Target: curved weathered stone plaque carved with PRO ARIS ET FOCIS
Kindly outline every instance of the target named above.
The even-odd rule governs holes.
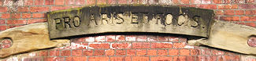
[[[213,10],[169,5],[87,6],[47,13],[50,38],[106,32],[208,37]]]

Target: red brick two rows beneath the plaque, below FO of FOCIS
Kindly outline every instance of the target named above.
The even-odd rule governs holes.
[[[172,42],[154,42],[151,43],[151,48],[173,48]]]

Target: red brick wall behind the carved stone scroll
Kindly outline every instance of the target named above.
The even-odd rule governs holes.
[[[216,20],[255,27],[256,0],[1,0],[0,31],[30,23],[46,22],[46,12],[84,5],[147,4],[180,5],[213,9]],[[242,54],[209,47],[187,45],[187,38],[174,35],[109,34],[72,38],[71,46],[31,52],[6,60],[256,60]]]

